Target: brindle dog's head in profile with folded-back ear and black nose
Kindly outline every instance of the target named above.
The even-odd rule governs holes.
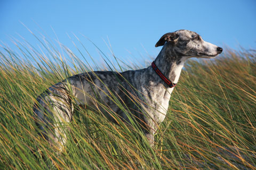
[[[177,54],[187,57],[213,58],[222,53],[222,48],[208,43],[196,32],[178,30],[165,33],[156,43],[156,47],[171,46]]]

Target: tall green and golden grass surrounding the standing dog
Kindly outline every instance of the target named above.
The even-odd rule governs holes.
[[[67,148],[57,154],[36,133],[35,98],[89,68],[65,47],[66,60],[41,45],[1,49],[1,169],[256,169],[255,50],[188,61],[153,149],[137,140],[139,132],[77,109]]]

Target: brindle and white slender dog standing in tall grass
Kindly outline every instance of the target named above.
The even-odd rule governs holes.
[[[75,101],[112,122],[135,122],[153,147],[154,134],[166,116],[185,61],[222,53],[221,47],[189,30],[166,33],[155,45],[159,46],[163,46],[161,52],[145,69],[85,72],[51,86],[36,99],[33,108],[38,133],[62,150],[68,128],[60,124],[72,121]]]

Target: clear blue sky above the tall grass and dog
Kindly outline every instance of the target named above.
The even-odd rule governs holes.
[[[37,45],[28,27],[57,39],[76,53],[73,33],[98,60],[97,49],[123,60],[155,56],[166,32],[188,29],[221,47],[256,47],[256,1],[0,1],[0,41],[14,48],[18,34]],[[24,25],[26,25],[26,27]],[[54,33],[55,32],[55,33]],[[105,41],[104,41],[105,40]],[[77,44],[77,42],[76,42]],[[80,48],[80,47],[79,47]],[[2,49],[0,49],[2,50]],[[225,50],[225,49],[224,49]],[[84,51],[83,51],[84,53]],[[100,59],[99,59],[100,60]]]

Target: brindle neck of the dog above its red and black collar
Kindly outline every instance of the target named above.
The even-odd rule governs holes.
[[[164,45],[156,57],[155,64],[167,79],[177,83],[187,57],[182,57],[175,53],[173,48],[169,46]]]

